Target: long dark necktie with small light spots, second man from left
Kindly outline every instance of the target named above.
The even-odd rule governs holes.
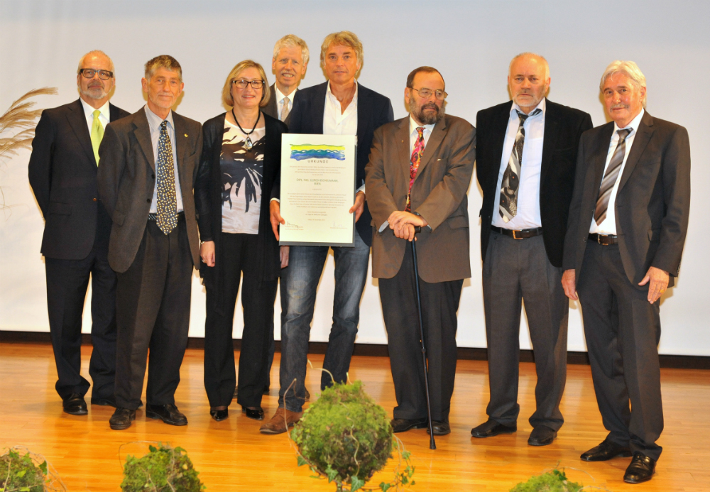
[[[160,124],[158,139],[158,203],[157,222],[163,234],[167,236],[178,225],[178,201],[175,198],[175,161],[173,160],[173,144],[168,135],[168,121]]]

